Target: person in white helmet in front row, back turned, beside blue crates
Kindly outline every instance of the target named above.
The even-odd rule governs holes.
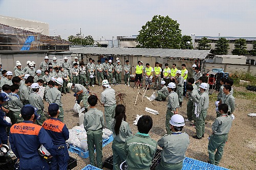
[[[169,124],[172,134],[164,135],[157,141],[159,147],[163,149],[161,152],[161,161],[156,167],[157,170],[181,170],[189,145],[188,134],[182,133],[182,129],[185,126],[183,116],[180,114],[173,115],[170,118]]]

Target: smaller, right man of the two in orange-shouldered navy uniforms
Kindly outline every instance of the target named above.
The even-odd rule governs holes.
[[[48,113],[50,118],[42,124],[42,127],[48,132],[53,144],[58,148],[56,150],[56,156],[51,158],[51,169],[66,170],[69,160],[69,152],[66,145],[66,140],[69,139],[69,130],[57,118],[59,115],[59,106],[56,103],[49,105]]]

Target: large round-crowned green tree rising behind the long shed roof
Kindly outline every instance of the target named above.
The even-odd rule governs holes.
[[[142,48],[180,48],[181,30],[177,20],[155,15],[139,31],[136,42]]]

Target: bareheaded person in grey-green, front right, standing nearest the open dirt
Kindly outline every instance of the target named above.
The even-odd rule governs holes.
[[[231,113],[228,111],[228,106],[226,104],[220,104],[218,110],[221,116],[217,117],[212,124],[208,143],[209,163],[217,166],[221,161],[228,132],[232,124]]]

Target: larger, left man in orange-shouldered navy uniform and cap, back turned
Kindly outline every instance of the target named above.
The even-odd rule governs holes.
[[[46,130],[34,124],[35,119],[39,118],[36,114],[36,108],[25,105],[21,113],[24,121],[14,124],[9,134],[9,142],[19,161],[19,169],[49,169],[46,160],[39,155],[38,148],[42,144],[51,156],[55,156],[56,146]]]

